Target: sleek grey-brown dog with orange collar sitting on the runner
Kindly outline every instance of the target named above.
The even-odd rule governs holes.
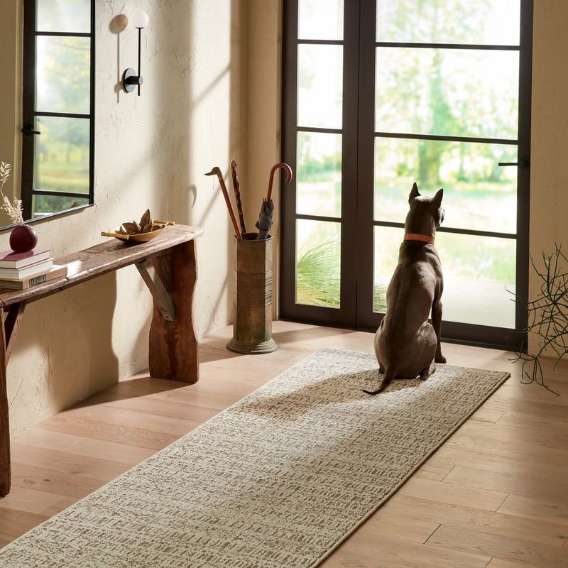
[[[393,378],[428,378],[436,363],[445,363],[439,342],[442,322],[442,265],[434,246],[436,229],[444,220],[439,190],[422,197],[416,184],[408,197],[410,211],[398,265],[386,291],[386,314],[375,334],[375,354],[383,373],[380,393]],[[428,321],[432,310],[432,323]]]

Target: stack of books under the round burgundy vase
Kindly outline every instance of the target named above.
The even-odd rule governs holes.
[[[25,290],[66,275],[67,266],[53,264],[49,249],[0,251],[0,288]]]

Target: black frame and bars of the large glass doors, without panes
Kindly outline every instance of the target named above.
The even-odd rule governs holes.
[[[524,162],[518,168],[517,229],[515,234],[474,231],[439,227],[440,232],[498,236],[516,239],[516,297],[515,330],[501,327],[446,322],[442,324],[445,341],[480,344],[506,349],[526,349],[527,310],[523,302],[528,298],[529,268],[529,208],[530,208],[530,120],[532,85],[532,19],[534,0],[520,0],[519,46],[509,46],[520,53],[518,139],[504,141],[518,145],[518,159]],[[310,324],[324,324],[374,331],[382,315],[372,311],[373,267],[357,263],[354,251],[372,258],[373,227],[403,227],[400,223],[376,222],[373,219],[373,164],[375,132],[375,49],[383,42],[376,41],[376,0],[345,0],[344,39],[341,41],[298,40],[298,0],[284,0],[283,5],[283,105],[282,137],[283,160],[296,170],[296,136],[298,131],[332,132],[332,129],[305,129],[297,126],[297,46],[302,43],[338,44],[344,46],[344,107],[342,133],[342,216],[338,219],[320,215],[296,213],[296,183],[282,192],[280,301],[279,317]],[[349,8],[347,8],[349,6]],[[391,45],[391,44],[389,44]],[[394,45],[394,44],[392,44]],[[412,47],[457,48],[453,44],[408,44]],[[403,44],[396,44],[400,47]],[[459,48],[475,49],[476,45]],[[503,46],[484,45],[486,49]],[[354,111],[351,107],[356,107]],[[353,123],[349,123],[353,121]],[[399,137],[400,135],[394,135]],[[406,138],[451,139],[455,136],[403,135]],[[468,142],[491,142],[494,139],[465,138]],[[371,188],[371,189],[370,189]],[[296,219],[314,219],[342,222],[342,281],[340,308],[301,305],[295,303],[295,223]],[[351,251],[351,253],[349,253]],[[442,298],[443,301],[443,298]]]

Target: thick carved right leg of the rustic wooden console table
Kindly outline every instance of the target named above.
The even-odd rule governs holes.
[[[168,321],[168,311],[164,309],[168,302],[164,302],[163,297],[160,299],[158,285],[158,290],[153,291],[149,351],[150,374],[156,378],[185,383],[196,383],[199,379],[197,336],[193,324],[193,294],[197,280],[195,248],[195,240],[188,241],[173,247],[165,255],[152,258],[174,307],[173,321]]]

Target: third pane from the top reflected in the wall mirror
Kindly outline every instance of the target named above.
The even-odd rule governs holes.
[[[38,116],[36,190],[89,193],[89,119]]]

